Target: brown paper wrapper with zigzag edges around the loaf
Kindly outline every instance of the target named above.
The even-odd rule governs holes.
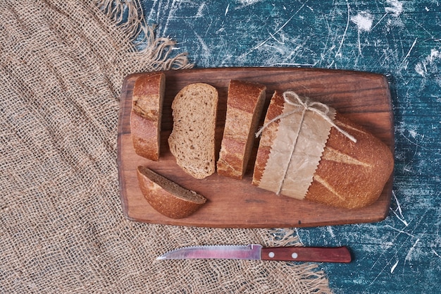
[[[335,109],[329,107],[328,117],[334,120]],[[259,187],[303,200],[320,163],[330,128],[321,114],[285,102]]]

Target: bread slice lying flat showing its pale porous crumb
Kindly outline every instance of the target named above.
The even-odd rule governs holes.
[[[210,176],[216,165],[218,91],[204,83],[187,85],[171,107],[173,130],[168,145],[176,163],[194,178]]]

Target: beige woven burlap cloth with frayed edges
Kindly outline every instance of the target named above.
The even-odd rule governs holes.
[[[185,245],[299,245],[293,231],[124,218],[123,78],[191,66],[142,27],[133,1],[2,1],[0,293],[330,293],[315,264],[155,260]]]

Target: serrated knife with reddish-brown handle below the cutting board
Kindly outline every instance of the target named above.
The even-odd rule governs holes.
[[[341,247],[263,247],[249,245],[208,245],[182,247],[156,258],[163,259],[257,259],[294,262],[351,262],[351,253]]]

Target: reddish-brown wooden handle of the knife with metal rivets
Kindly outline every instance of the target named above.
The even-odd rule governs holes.
[[[294,262],[351,262],[351,252],[341,247],[266,247],[262,248],[263,260]]]

